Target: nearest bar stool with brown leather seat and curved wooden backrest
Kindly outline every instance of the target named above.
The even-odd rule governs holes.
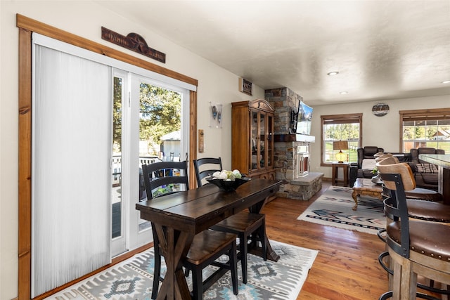
[[[378,164],[383,183],[390,190],[384,200],[387,251],[391,259],[392,280],[389,292],[380,299],[424,299],[427,294],[417,293],[417,287],[449,294],[447,290],[418,284],[418,275],[450,284],[450,226],[434,221],[411,219],[406,190],[413,190],[413,180],[408,164]]]

